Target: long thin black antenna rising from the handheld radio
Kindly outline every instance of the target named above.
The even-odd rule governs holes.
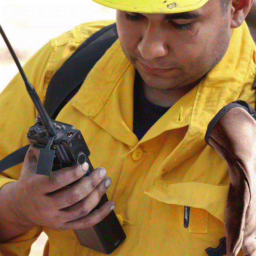
[[[20,65],[20,62],[13,50],[8,38],[6,37],[6,34],[4,33],[4,30],[2,29],[1,25],[0,25],[0,34],[2,35],[2,38],[4,39],[4,42],[6,43],[6,46],[8,47],[10,54],[12,55],[12,58],[14,59],[14,62],[16,63],[16,66],[20,72],[20,75],[22,76],[22,79],[25,83],[27,92],[38,111],[38,114],[41,118],[42,124],[44,125],[47,136],[52,137],[52,136],[57,135],[57,133],[58,133],[57,130],[53,127],[52,121],[50,120],[50,117],[48,116],[38,94],[36,93],[35,88],[28,81],[28,78],[26,77],[24,70],[23,70],[22,66]]]

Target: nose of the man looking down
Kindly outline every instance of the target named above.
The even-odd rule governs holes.
[[[141,56],[145,60],[166,56],[168,54],[166,38],[166,32],[159,26],[147,24],[137,46]]]

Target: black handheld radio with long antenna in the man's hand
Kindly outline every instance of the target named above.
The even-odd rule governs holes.
[[[38,111],[37,122],[28,129],[27,133],[30,145],[40,150],[36,173],[50,175],[54,170],[72,166],[76,163],[81,165],[86,161],[89,169],[84,176],[88,176],[94,169],[88,158],[90,151],[80,130],[75,129],[70,124],[50,119],[36,90],[28,81],[1,26],[0,34],[18,67],[27,92]],[[104,194],[96,208],[102,206],[106,201],[108,201],[108,198]],[[105,254],[113,252],[126,238],[113,210],[98,224],[91,228],[74,230],[74,233],[82,246]]]

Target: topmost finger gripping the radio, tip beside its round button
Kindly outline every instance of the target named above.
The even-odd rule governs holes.
[[[73,166],[56,170],[50,176],[41,175],[41,180],[38,182],[42,183],[39,185],[44,189],[45,193],[51,193],[79,180],[84,176],[88,167],[86,162],[82,165],[74,164]]]

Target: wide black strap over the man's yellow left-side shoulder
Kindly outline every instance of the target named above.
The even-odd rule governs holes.
[[[89,71],[117,39],[116,23],[98,30],[56,71],[48,84],[44,102],[51,119],[55,119],[78,92]],[[0,172],[22,163],[28,148],[29,145],[26,145],[0,160]]]

